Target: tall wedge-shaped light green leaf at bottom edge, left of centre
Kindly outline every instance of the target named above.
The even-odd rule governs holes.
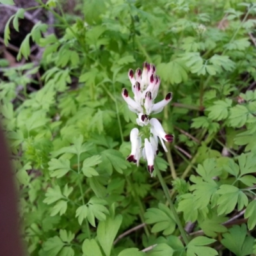
[[[121,215],[116,216],[115,219],[108,216],[106,221],[100,221],[98,225],[97,237],[106,256],[109,256],[111,253],[111,248],[122,223],[122,219]]]

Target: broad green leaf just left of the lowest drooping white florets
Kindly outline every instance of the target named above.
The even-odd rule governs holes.
[[[123,173],[123,170],[127,169],[130,166],[127,161],[125,161],[124,156],[118,150],[107,149],[101,152],[102,163],[100,168],[106,170],[106,172],[111,175],[113,173],[113,168],[118,173]]]

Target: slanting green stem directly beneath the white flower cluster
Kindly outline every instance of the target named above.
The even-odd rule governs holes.
[[[156,173],[157,173],[157,177],[158,177],[158,179],[159,179],[159,181],[160,181],[160,183],[161,183],[161,186],[162,186],[162,188],[163,188],[164,195],[166,196],[166,199],[167,199],[167,201],[168,201],[168,203],[169,203],[169,205],[170,205],[170,209],[171,209],[171,211],[172,211],[172,213],[173,213],[173,216],[174,216],[174,218],[175,218],[175,221],[176,221],[176,223],[177,223],[177,226],[178,226],[178,228],[179,228],[179,230],[180,230],[180,234],[181,234],[181,236],[182,236],[182,238],[183,238],[183,240],[184,240],[184,243],[185,243],[186,245],[188,245],[189,240],[188,240],[187,234],[186,234],[184,228],[182,227],[182,224],[181,224],[180,219],[179,219],[179,215],[177,214],[177,211],[176,211],[176,209],[175,209],[175,207],[174,207],[174,205],[173,205],[172,198],[171,198],[171,196],[170,196],[170,193],[169,193],[169,191],[168,191],[168,188],[167,188],[167,186],[166,186],[166,183],[164,182],[164,179],[163,179],[163,177],[162,177],[162,175],[161,175],[161,172],[160,172],[160,170],[159,170],[157,164],[155,163],[154,165],[155,165],[155,170],[156,170]]]

